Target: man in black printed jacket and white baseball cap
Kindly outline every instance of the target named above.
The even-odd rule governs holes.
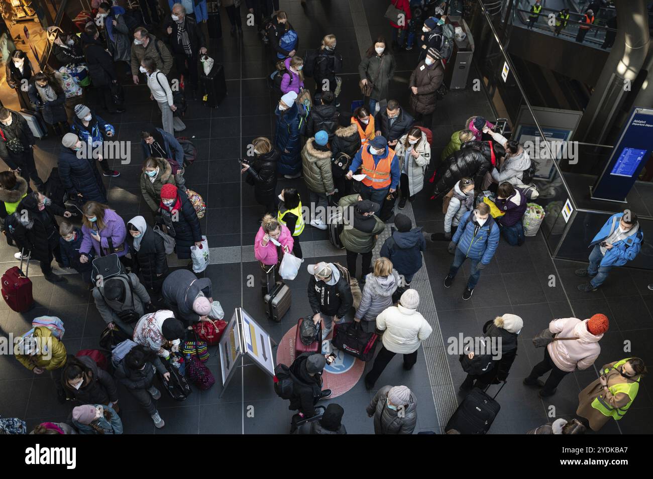
[[[354,304],[348,273],[333,263],[309,264],[308,302],[313,311],[313,322],[324,320],[322,339],[327,339],[336,324],[345,322],[345,315]]]

